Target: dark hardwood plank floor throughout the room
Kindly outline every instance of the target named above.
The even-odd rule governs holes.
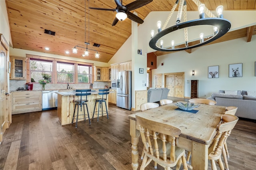
[[[0,170],[131,170],[128,115],[132,113],[110,104],[109,120],[100,117],[92,125],[82,121],[78,128],[61,126],[56,110],[12,115],[0,145]],[[230,170],[255,169],[255,122],[240,119],[227,144]],[[146,169],[154,170],[154,166]]]

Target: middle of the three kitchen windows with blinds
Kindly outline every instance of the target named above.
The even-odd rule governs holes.
[[[57,83],[74,83],[74,64],[57,62]]]

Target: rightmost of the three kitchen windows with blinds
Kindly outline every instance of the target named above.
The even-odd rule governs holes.
[[[77,66],[78,83],[92,83],[92,66],[80,65]]]

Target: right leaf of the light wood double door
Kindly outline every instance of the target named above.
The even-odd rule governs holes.
[[[174,97],[184,98],[184,74],[174,75]]]

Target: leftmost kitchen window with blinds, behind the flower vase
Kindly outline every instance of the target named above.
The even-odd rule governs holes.
[[[31,82],[48,80],[52,82],[52,61],[30,58],[30,78]]]

